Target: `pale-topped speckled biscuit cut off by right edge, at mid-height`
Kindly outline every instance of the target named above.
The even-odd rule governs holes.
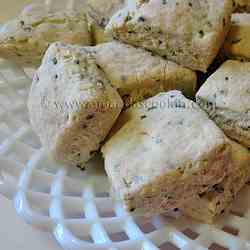
[[[225,62],[196,100],[227,136],[250,148],[250,63]]]

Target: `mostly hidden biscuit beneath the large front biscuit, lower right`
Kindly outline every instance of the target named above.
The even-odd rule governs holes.
[[[236,195],[249,181],[250,152],[238,143],[231,143],[232,173],[208,192],[198,194],[192,202],[185,204],[182,209],[184,214],[205,223],[213,223],[230,208]]]

